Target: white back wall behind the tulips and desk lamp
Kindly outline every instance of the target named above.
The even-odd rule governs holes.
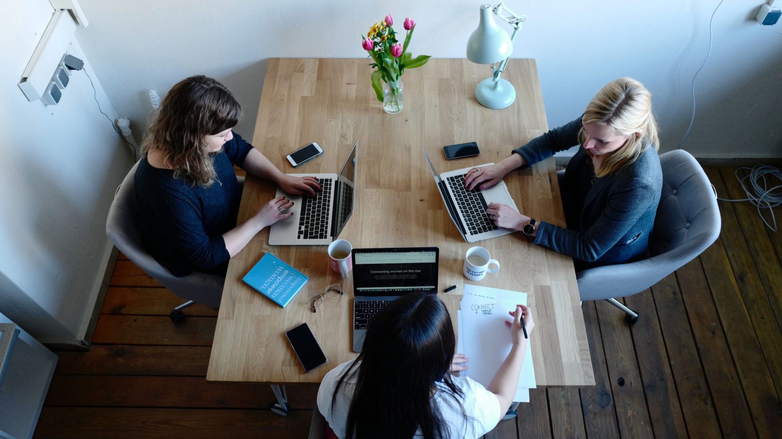
[[[698,115],[683,145],[694,155],[782,156],[782,24],[763,27],[754,20],[761,2],[732,0],[716,13],[712,55],[695,87]],[[690,121],[691,79],[708,50],[708,20],[718,3],[506,2],[529,17],[514,57],[537,60],[551,127],[579,116],[608,80],[631,76],[655,95],[664,150],[676,148]],[[464,58],[480,4],[81,0],[91,25],[78,35],[137,137],[148,123],[147,90],[162,96],[198,73],[234,91],[246,111],[237,130],[249,137],[268,58],[364,57],[359,35],[388,12],[399,23],[405,16],[417,20],[414,54]]]

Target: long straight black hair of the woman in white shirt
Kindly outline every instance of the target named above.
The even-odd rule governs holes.
[[[367,327],[364,352],[339,378],[332,397],[333,408],[345,377],[361,362],[346,439],[406,438],[418,429],[425,439],[447,437],[432,395],[446,391],[464,413],[464,393],[450,376],[455,348],[448,309],[436,294],[406,294],[378,312]]]

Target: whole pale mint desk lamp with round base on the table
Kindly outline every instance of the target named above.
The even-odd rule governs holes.
[[[508,12],[509,16],[503,16],[502,12]],[[494,14],[500,17],[500,20],[511,24],[511,37],[494,23]],[[481,5],[480,23],[467,41],[467,59],[476,64],[491,64],[493,77],[482,80],[475,87],[475,99],[485,107],[504,109],[516,100],[515,88],[508,80],[500,78],[500,74],[508,64],[513,53],[513,41],[522,27],[522,21],[526,19],[526,16],[517,16],[501,1],[493,8],[490,5]],[[497,62],[500,62],[499,67],[496,66]]]

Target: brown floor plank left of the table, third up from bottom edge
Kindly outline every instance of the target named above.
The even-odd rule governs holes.
[[[206,377],[210,346],[94,344],[88,352],[59,352],[55,373]]]

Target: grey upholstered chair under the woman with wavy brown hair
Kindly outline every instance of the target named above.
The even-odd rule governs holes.
[[[138,168],[138,162],[117,188],[117,194],[114,195],[114,201],[109,208],[109,217],[106,219],[106,234],[120,249],[120,252],[127,256],[127,259],[163,284],[163,287],[167,287],[171,292],[187,301],[171,312],[170,317],[174,323],[185,317],[181,309],[194,302],[219,308],[223,294],[223,277],[199,272],[190,273],[185,277],[174,277],[144,249],[141,232],[135,222],[133,193],[136,168]]]

